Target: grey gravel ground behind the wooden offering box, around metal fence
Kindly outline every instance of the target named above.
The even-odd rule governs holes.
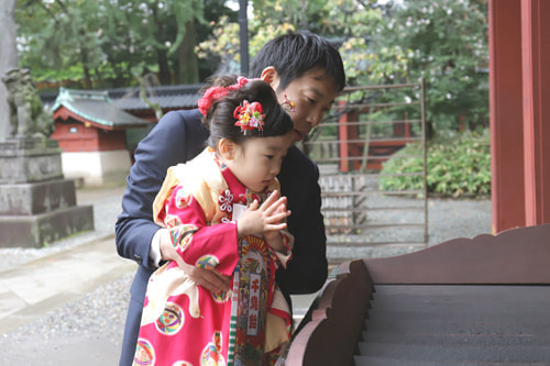
[[[371,211],[366,218],[370,225],[376,224],[419,224],[416,228],[372,229],[366,235],[329,236],[328,257],[332,262],[348,258],[384,257],[421,249],[455,237],[473,237],[491,233],[490,200],[428,199],[428,237],[425,241],[424,200],[404,197],[372,196],[371,207],[414,207],[417,210]],[[331,241],[339,243],[366,243],[362,246],[331,246]],[[395,243],[395,244],[380,244]],[[356,245],[356,244],[355,244]]]

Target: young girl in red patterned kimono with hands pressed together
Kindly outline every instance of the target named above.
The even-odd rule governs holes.
[[[134,365],[270,365],[290,335],[275,271],[293,245],[276,179],[293,121],[268,84],[245,78],[219,78],[199,109],[209,146],[168,169],[154,217],[186,263],[232,276],[231,290],[209,292],[174,262],[160,267]]]

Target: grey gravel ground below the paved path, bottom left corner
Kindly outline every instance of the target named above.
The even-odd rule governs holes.
[[[1,365],[117,365],[133,275],[0,336]]]

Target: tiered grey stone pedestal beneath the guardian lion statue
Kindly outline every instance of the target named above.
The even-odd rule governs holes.
[[[76,206],[75,182],[62,171],[54,140],[0,142],[0,246],[41,247],[94,230],[92,207]]]

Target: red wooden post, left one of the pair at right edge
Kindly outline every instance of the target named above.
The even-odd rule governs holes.
[[[488,1],[493,232],[525,225],[520,0]]]

